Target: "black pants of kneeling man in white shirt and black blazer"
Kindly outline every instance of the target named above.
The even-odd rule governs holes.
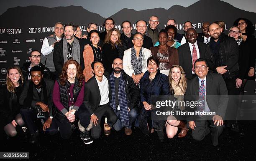
[[[97,116],[97,118],[99,119],[97,122],[98,124],[96,124],[96,126],[94,126],[94,124],[92,125],[92,129],[91,129],[91,135],[92,138],[94,139],[98,139],[100,138],[101,135],[101,127],[100,127],[100,122],[102,119],[102,116],[106,116],[108,119],[108,124],[110,126],[113,126],[115,124],[115,122],[117,121],[118,117],[115,115],[115,112],[113,110],[112,107],[110,107],[110,104],[105,104],[101,107],[98,107],[94,114]]]

